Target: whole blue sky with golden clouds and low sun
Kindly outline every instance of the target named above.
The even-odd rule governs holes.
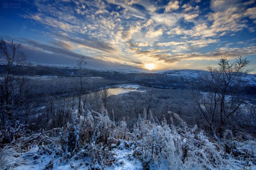
[[[0,36],[27,61],[103,69],[256,68],[255,0],[3,0]],[[256,72],[254,70],[254,72]]]

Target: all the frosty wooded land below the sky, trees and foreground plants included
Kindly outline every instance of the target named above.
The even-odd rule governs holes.
[[[256,169],[244,57],[146,73],[88,68],[85,56],[35,64],[2,37],[0,52],[0,169]],[[134,89],[110,93],[120,86]]]

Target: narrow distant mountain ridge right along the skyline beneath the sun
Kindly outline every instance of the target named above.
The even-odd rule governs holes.
[[[3,65],[6,65],[6,60],[4,58],[0,58],[0,73],[3,72]],[[60,76],[71,76],[76,75],[77,66],[76,65],[61,65],[61,64],[45,64],[45,63],[37,63],[37,62],[25,62],[22,63],[23,66],[27,66],[27,71],[31,75],[60,75]],[[17,68],[19,69],[19,68]],[[110,74],[127,74],[133,73],[135,74],[143,74],[145,77],[153,76],[153,75],[168,75],[176,78],[187,79],[188,81],[196,80],[199,78],[199,73],[208,74],[205,70],[193,70],[193,69],[174,69],[174,70],[166,70],[160,72],[142,72],[142,71],[134,71],[127,69],[100,69],[94,67],[85,67],[87,76],[93,77],[105,77]],[[249,86],[256,86],[256,74],[245,74],[244,79],[248,82]]]

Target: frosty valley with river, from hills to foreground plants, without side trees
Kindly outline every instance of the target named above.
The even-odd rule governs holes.
[[[4,70],[4,67],[2,64],[0,70]],[[245,99],[241,102],[239,112],[228,118],[230,122],[225,124],[224,130],[226,143],[241,138],[235,141],[235,145],[240,146],[238,151],[233,150],[230,154],[241,156],[240,152],[244,151],[251,156],[250,159],[239,160],[240,165],[237,165],[238,157],[223,159],[223,155],[217,153],[216,145],[224,150],[232,149],[232,146],[224,147],[224,143],[215,134],[218,131],[212,133],[211,126],[207,125],[211,117],[205,121],[199,112],[200,109],[211,109],[209,105],[214,104],[207,99],[214,96],[214,90],[203,86],[200,80],[200,76],[209,76],[209,72],[169,70],[147,73],[85,68],[81,76],[75,66],[40,64],[14,67],[14,72],[17,72],[14,80],[26,82],[23,88],[28,91],[22,94],[25,95],[20,99],[22,105],[16,104],[13,107],[16,109],[16,116],[13,117],[15,126],[2,126],[2,129],[7,128],[10,133],[2,130],[0,137],[2,144],[16,143],[20,149],[26,150],[23,153],[13,151],[13,154],[20,155],[14,159],[18,169],[170,169],[176,166],[179,167],[177,169],[227,166],[236,169],[255,166],[255,75],[244,74],[236,94],[230,91],[224,98],[226,105],[231,108],[240,103],[241,98]],[[4,72],[1,74],[3,76]],[[197,102],[201,102],[200,105],[197,106]],[[2,117],[1,121],[6,118]],[[212,121],[215,123],[216,119],[219,117],[214,117]],[[232,134],[230,128],[236,134]],[[241,129],[246,133],[242,135]],[[18,134],[23,137],[16,138]],[[168,138],[165,138],[166,135]],[[44,145],[40,141],[44,141]],[[212,153],[201,152],[197,143]],[[186,148],[186,145],[201,152],[203,157],[195,154],[191,148]],[[251,148],[244,149],[244,145]],[[170,150],[174,153],[169,153]],[[1,151],[6,152],[10,158],[13,155],[6,147]],[[116,156],[110,158],[112,163],[107,163],[108,159],[98,157],[100,155]],[[174,155],[178,164],[169,162]],[[215,155],[215,161],[212,155]],[[32,159],[34,161],[30,162]],[[206,161],[203,164],[202,159]],[[244,164],[244,160],[251,162]],[[13,166],[9,159],[6,161],[7,166]],[[159,162],[162,164],[158,165]]]

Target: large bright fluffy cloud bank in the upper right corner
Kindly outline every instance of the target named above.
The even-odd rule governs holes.
[[[188,4],[183,5],[184,8],[187,6]],[[254,29],[248,27],[246,17],[254,19],[256,8],[248,8],[246,10],[241,4],[226,3],[218,0],[211,1],[211,8],[214,12],[206,15],[207,20],[200,18],[200,22],[194,21],[195,18],[199,17],[199,14],[184,14],[185,20],[194,22],[195,26],[191,29],[184,29],[178,26],[168,31],[167,34],[206,38],[224,36],[243,29],[254,31]],[[202,22],[204,23],[202,24]]]

